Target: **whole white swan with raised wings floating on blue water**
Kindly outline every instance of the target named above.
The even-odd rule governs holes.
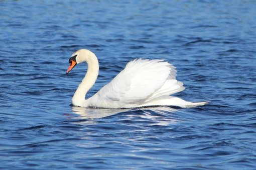
[[[195,107],[207,102],[189,102],[170,94],[185,89],[183,83],[176,80],[175,67],[161,59],[135,59],[112,81],[103,86],[92,97],[85,99],[87,91],[95,83],[99,63],[95,54],[80,49],[69,59],[67,73],[78,63],[87,62],[88,69],[72,98],[74,106],[101,108],[132,108],[152,105],[170,105]]]

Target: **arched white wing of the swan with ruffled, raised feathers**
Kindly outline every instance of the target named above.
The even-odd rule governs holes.
[[[183,83],[175,78],[176,72],[175,67],[164,60],[135,59],[127,63],[126,67],[90,100],[93,104],[100,101],[102,107],[103,101],[108,106],[113,104],[113,107],[140,105],[153,98],[183,90]]]

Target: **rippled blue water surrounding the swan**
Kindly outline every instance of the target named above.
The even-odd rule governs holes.
[[[255,169],[256,1],[1,0],[1,169]],[[167,59],[196,108],[88,109],[71,98],[98,57],[92,96],[135,58]],[[149,84],[150,85],[150,84]]]

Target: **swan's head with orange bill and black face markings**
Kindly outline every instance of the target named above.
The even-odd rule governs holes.
[[[79,49],[79,50],[77,50],[69,58],[68,62],[70,63],[70,66],[67,69],[67,73],[69,71],[71,71],[71,69],[73,69],[76,66],[76,64],[79,64],[79,63],[82,63],[82,62],[88,62],[88,61],[91,61],[92,59],[95,59],[95,58],[96,58],[95,54],[92,51],[88,50],[88,49]],[[97,60],[97,58],[96,58],[96,60]]]

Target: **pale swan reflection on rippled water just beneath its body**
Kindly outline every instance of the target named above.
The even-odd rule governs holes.
[[[170,113],[174,113],[177,109],[168,106],[150,106],[140,108],[88,108],[72,106],[72,112],[75,114],[79,114],[82,118],[102,118],[120,112],[138,110],[143,111],[143,113],[150,117],[151,115],[155,115],[155,113],[165,116]]]

